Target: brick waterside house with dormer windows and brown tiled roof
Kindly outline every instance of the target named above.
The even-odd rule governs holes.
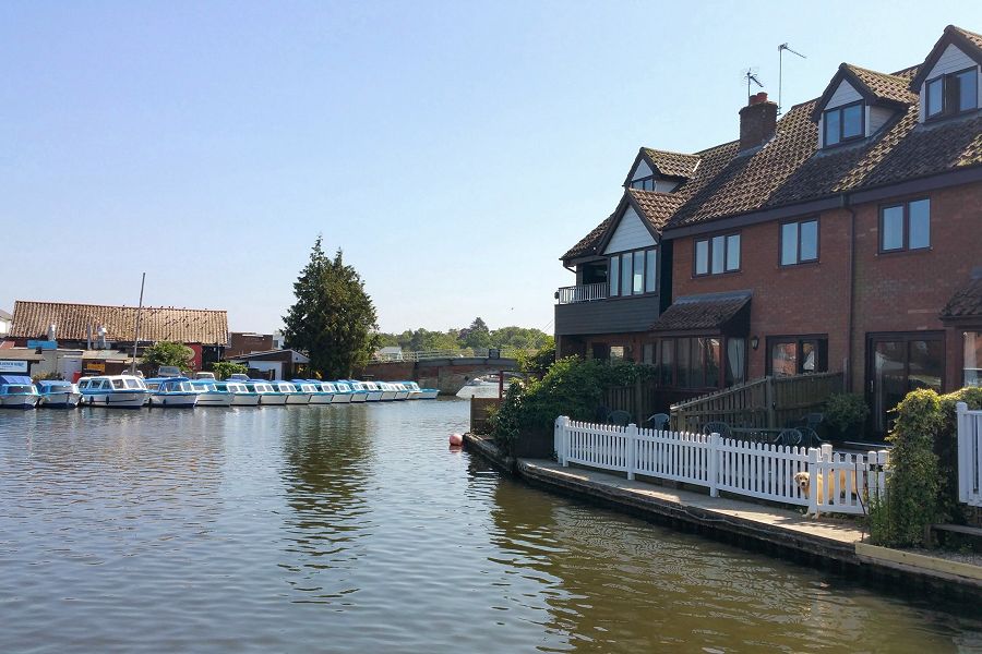
[[[563,256],[577,286],[559,293],[560,354],[656,365],[666,401],[766,374],[842,372],[877,433],[910,389],[979,384],[980,68],[982,36],[948,26],[919,65],[886,74],[843,63],[780,120],[766,94],[752,96],[735,141],[643,149],[625,197],[645,198],[657,245],[639,232],[618,241],[619,207]],[[684,161],[684,174],[656,156]],[[571,319],[643,298],[636,263],[628,278],[621,255],[649,246],[668,286],[645,308],[647,327],[640,316],[602,330]],[[607,277],[588,271],[604,259]]]

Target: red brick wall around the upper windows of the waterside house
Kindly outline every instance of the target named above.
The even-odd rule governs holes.
[[[853,390],[865,388],[866,334],[942,330],[938,312],[951,294],[982,266],[978,237],[982,184],[935,191],[931,197],[927,251],[878,254],[879,207],[855,207],[857,284],[853,327]],[[914,197],[923,197],[914,196]],[[898,199],[901,199],[898,197]],[[802,215],[800,218],[810,218]],[[749,377],[765,374],[768,336],[828,335],[828,368],[843,371],[848,358],[850,214],[819,216],[819,263],[779,265],[781,221],[741,230],[741,270],[694,278],[693,238],[674,243],[672,295],[752,290],[750,335],[759,348],[749,351]],[[961,332],[946,340],[945,388],[960,386]]]

